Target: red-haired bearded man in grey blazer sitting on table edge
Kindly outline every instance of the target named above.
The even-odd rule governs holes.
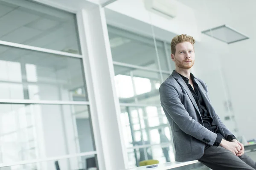
[[[212,170],[254,170],[256,163],[215,113],[207,85],[191,74],[194,43],[186,34],[172,39],[176,68],[159,88],[172,127],[176,161],[199,160]]]

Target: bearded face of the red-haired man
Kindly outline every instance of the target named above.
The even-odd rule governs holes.
[[[195,62],[194,47],[190,42],[181,42],[176,45],[175,55],[171,55],[176,67],[189,69]]]

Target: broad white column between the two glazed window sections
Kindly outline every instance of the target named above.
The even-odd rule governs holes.
[[[82,9],[77,18],[99,169],[125,169],[128,156],[122,142],[105,11],[93,5]]]

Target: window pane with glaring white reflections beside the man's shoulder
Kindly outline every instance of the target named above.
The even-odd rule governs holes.
[[[116,92],[120,103],[159,104],[159,73],[114,66]]]

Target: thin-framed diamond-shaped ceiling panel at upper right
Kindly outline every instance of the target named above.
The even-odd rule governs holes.
[[[208,36],[213,37],[217,40],[221,40],[222,42],[226,42],[227,44],[249,39],[249,37],[239,33],[238,31],[226,25],[211,28],[202,31],[202,33],[207,34]]]

